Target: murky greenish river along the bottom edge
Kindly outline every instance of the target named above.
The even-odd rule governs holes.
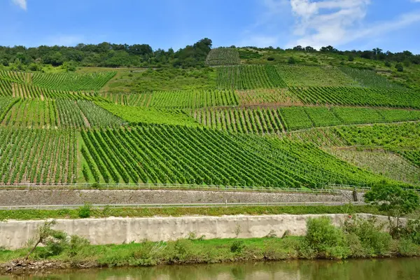
[[[0,276],[6,279],[50,280],[419,280],[419,258],[346,261],[246,262],[217,265],[173,265],[106,268]]]

